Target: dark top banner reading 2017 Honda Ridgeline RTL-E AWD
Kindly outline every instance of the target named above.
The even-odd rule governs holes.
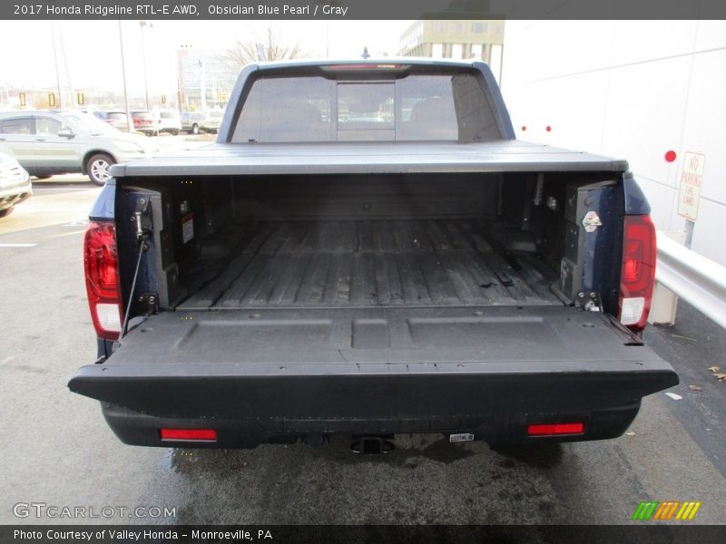
[[[11,0],[9,20],[726,19],[723,0]]]

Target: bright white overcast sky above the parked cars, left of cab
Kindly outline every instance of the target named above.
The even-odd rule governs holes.
[[[324,56],[326,35],[332,57],[357,57],[364,45],[396,54],[398,38],[412,21],[152,21],[145,29],[149,92],[176,92],[176,51],[182,44],[222,53],[236,40],[262,41],[267,28],[283,41]],[[123,21],[123,49],[129,92],[143,92],[141,27]],[[121,48],[117,21],[55,21],[61,77],[75,90],[121,90]],[[0,85],[54,89],[53,28],[50,21],[0,21]],[[62,37],[62,40],[60,39]],[[63,47],[60,44],[63,44]],[[64,50],[64,51],[63,51]],[[67,63],[67,70],[66,70]]]

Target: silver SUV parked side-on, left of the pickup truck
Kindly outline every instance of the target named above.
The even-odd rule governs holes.
[[[152,151],[141,137],[87,113],[0,113],[0,152],[13,155],[38,178],[81,172],[103,185],[112,164],[149,157]]]

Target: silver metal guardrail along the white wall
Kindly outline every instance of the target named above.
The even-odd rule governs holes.
[[[655,281],[726,328],[726,267],[684,248],[660,230]]]

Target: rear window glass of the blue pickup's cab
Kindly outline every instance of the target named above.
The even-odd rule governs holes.
[[[237,142],[491,141],[501,133],[471,73],[387,80],[323,76],[257,79],[232,135]]]

